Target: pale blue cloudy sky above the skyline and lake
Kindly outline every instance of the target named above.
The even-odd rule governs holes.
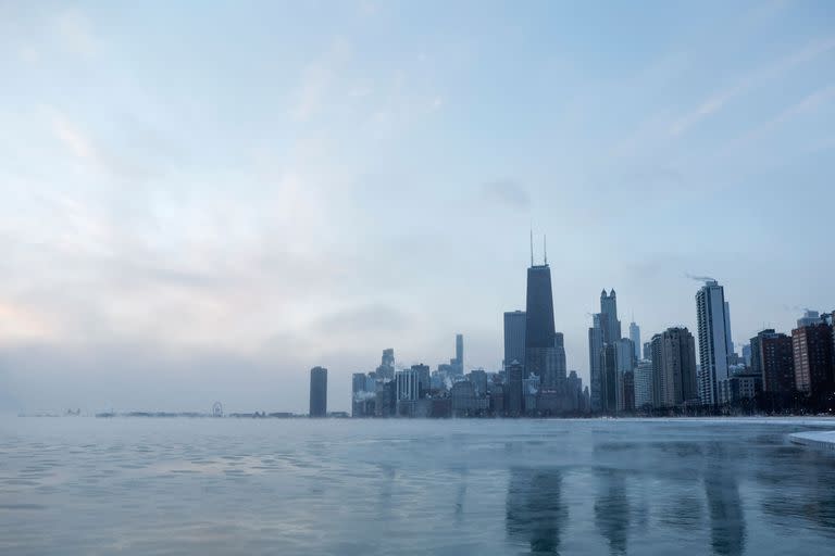
[[[0,0],[0,408],[307,412],[502,358],[528,233],[624,332],[835,308],[835,4]]]

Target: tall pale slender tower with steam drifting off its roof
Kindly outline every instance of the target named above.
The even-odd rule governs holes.
[[[705,405],[719,404],[719,383],[728,378],[727,357],[732,353],[731,317],[725,290],[708,280],[696,293],[699,331],[699,397]]]

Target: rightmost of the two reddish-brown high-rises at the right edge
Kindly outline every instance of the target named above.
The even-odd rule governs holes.
[[[831,389],[833,377],[832,326],[821,320],[792,330],[795,359],[795,387],[807,395]]]

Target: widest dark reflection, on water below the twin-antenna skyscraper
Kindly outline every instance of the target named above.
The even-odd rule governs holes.
[[[569,510],[561,498],[559,469],[512,468],[508,483],[508,538],[531,547],[531,554],[559,554]]]

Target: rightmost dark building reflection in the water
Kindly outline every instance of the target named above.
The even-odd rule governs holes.
[[[714,554],[734,556],[745,549],[745,515],[739,496],[736,456],[712,446],[705,470],[705,494],[710,516],[710,544]]]

